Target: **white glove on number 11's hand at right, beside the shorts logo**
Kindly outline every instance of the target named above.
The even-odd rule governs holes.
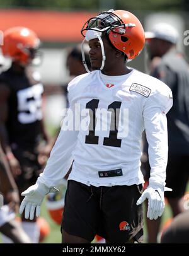
[[[168,187],[160,188],[154,185],[149,185],[140,196],[137,201],[137,206],[148,199],[147,218],[157,219],[163,214],[165,206],[164,191],[172,191],[172,189],[169,189]]]

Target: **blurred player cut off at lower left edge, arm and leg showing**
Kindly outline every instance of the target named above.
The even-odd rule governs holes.
[[[18,188],[0,145],[0,191],[4,195],[6,205],[0,207],[0,232],[14,243],[31,243],[30,238],[15,219],[20,198]]]

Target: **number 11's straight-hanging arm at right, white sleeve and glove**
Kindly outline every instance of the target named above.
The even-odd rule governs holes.
[[[137,204],[148,199],[147,217],[157,219],[164,210],[164,191],[166,180],[166,165],[168,161],[168,131],[166,113],[173,105],[171,90],[165,90],[164,95],[154,93],[146,100],[144,106],[144,126],[149,144],[149,164],[151,173],[149,186],[144,190]]]

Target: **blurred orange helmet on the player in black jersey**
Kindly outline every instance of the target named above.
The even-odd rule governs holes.
[[[12,61],[22,65],[29,64],[35,57],[35,52],[40,45],[36,33],[22,26],[9,28],[4,32],[4,56],[11,57]]]

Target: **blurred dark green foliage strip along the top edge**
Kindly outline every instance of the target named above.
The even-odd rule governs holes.
[[[130,9],[189,11],[188,0],[0,0],[0,8],[40,8],[57,10]]]

